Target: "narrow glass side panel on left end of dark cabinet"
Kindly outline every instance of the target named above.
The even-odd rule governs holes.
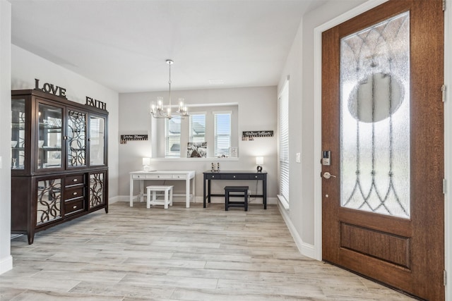
[[[25,99],[11,99],[11,168],[24,169]]]

